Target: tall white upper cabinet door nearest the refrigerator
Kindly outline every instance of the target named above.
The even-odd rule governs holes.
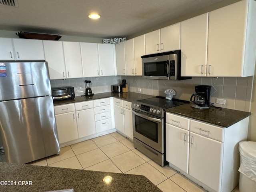
[[[65,79],[66,67],[61,41],[43,40],[44,56],[48,62],[50,79]]]

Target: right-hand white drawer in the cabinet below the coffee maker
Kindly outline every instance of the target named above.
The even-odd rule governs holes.
[[[190,132],[224,142],[224,128],[206,124],[203,122],[190,120]]]

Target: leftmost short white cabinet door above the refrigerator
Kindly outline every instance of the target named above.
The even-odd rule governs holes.
[[[15,60],[11,38],[0,38],[0,60]]]

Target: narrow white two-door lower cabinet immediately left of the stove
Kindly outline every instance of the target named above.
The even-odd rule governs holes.
[[[116,130],[133,139],[132,103],[114,98],[114,117]]]

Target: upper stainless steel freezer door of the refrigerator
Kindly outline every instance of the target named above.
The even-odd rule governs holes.
[[[51,95],[47,62],[0,62],[0,101]]]

